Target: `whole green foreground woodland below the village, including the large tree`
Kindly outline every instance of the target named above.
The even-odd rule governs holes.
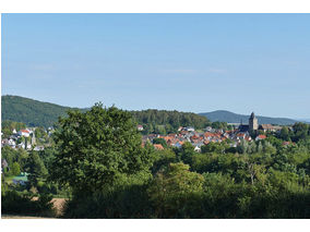
[[[62,218],[310,218],[308,124],[199,154],[190,143],[142,147],[132,114],[115,107],[68,114],[51,147],[2,149],[2,213],[53,216],[49,200],[62,196]],[[29,173],[25,186],[9,184],[19,171]]]

